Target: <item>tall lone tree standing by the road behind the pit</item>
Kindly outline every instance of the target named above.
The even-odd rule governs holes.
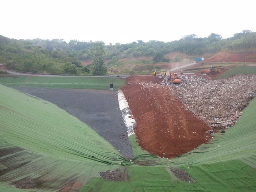
[[[105,45],[102,42],[91,42],[91,48],[89,50],[91,53],[91,73],[92,75],[106,75],[107,68],[105,66],[105,59],[104,56],[106,55],[105,52]]]

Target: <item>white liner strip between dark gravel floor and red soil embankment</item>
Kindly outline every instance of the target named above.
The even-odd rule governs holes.
[[[135,119],[133,119],[129,105],[126,101],[126,98],[123,94],[123,91],[118,91],[118,102],[119,108],[123,114],[123,119],[126,124],[128,136],[134,134],[133,127],[136,125]]]

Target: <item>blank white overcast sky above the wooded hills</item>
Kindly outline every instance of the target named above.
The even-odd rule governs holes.
[[[256,32],[254,0],[1,0],[0,35],[130,43]]]

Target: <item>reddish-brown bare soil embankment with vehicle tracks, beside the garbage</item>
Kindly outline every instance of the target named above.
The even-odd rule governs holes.
[[[139,145],[160,157],[174,158],[207,143],[210,128],[182,108],[160,82],[156,76],[130,76],[121,90],[137,124]]]

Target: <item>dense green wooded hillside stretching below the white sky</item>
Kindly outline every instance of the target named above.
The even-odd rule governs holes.
[[[92,51],[96,44],[101,49],[100,52],[98,50],[101,55],[97,58],[101,62],[100,68],[95,67],[96,52]],[[192,34],[172,42],[138,40],[115,45],[77,40],[66,43],[62,39],[15,40],[0,35],[0,63],[18,71],[55,74],[148,74],[153,68],[157,68],[152,64],[182,60],[182,56],[168,58],[166,55],[171,52],[194,57],[211,56],[220,51],[248,50],[256,50],[256,32],[249,30],[227,39],[215,33],[205,38],[197,38]],[[138,57],[146,59],[137,61]],[[91,64],[85,67],[82,62]]]

